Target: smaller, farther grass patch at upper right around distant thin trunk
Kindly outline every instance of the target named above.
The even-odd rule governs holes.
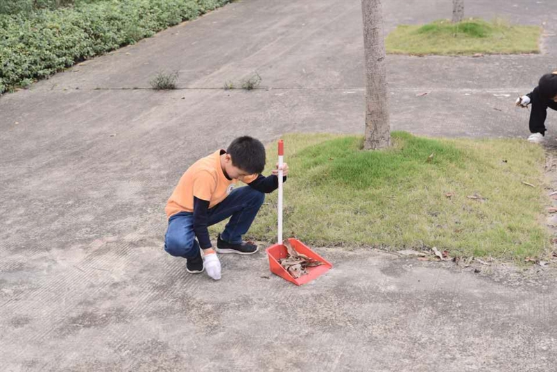
[[[423,26],[397,26],[385,45],[387,53],[418,56],[539,53],[540,33],[540,26],[513,26],[502,19],[471,18],[457,24],[441,19]]]

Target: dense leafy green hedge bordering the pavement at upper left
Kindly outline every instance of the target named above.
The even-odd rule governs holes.
[[[105,0],[0,14],[0,93],[26,86],[230,0]]]

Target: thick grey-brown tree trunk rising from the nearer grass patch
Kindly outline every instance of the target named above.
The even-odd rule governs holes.
[[[366,132],[363,148],[391,145],[381,0],[361,0],[366,60]]]

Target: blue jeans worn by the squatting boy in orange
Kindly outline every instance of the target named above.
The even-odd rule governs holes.
[[[240,244],[242,235],[248,232],[264,200],[265,194],[252,187],[234,189],[221,203],[209,209],[208,226],[232,216],[221,239],[231,244]],[[194,258],[200,255],[199,243],[194,233],[193,213],[179,212],[170,217],[169,228],[164,237],[164,250],[176,257]]]

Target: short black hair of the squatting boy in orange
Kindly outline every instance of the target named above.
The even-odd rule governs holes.
[[[248,172],[248,174],[262,173],[265,168],[265,146],[248,135],[238,137],[232,141],[226,153],[232,158],[232,165]]]

